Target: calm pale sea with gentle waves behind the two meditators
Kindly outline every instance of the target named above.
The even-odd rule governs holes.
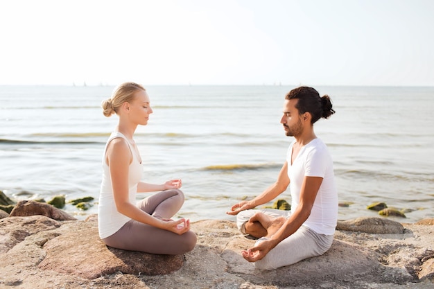
[[[182,179],[175,218],[235,220],[225,213],[233,204],[277,179],[293,141],[280,123],[284,96],[295,87],[147,86],[154,112],[134,137],[144,182]],[[338,218],[379,216],[367,209],[374,202],[404,211],[387,217],[399,222],[434,218],[434,87],[315,88],[336,110],[314,127],[333,157]],[[64,210],[97,213],[103,150],[118,121],[101,102],[113,89],[0,86],[0,191],[15,201],[92,196],[90,209]],[[278,198],[290,202],[289,189]]]

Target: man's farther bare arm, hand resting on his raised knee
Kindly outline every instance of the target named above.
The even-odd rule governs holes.
[[[229,215],[236,215],[240,211],[252,209],[261,204],[266,204],[270,202],[278,195],[283,193],[289,185],[289,177],[288,177],[288,162],[285,161],[284,166],[282,166],[279,176],[277,177],[277,181],[269,186],[265,191],[258,195],[256,198],[250,201],[241,201],[238,204],[234,204],[232,206],[231,211],[227,211],[226,213]]]

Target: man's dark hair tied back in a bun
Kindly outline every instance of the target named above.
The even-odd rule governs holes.
[[[297,87],[286,94],[285,99],[298,99],[297,108],[299,114],[309,112],[312,116],[311,124],[318,121],[322,117],[324,119],[329,118],[335,111],[331,108],[331,99],[326,94],[320,97],[318,91],[313,87]]]

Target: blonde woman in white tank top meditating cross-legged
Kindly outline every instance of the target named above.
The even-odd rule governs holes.
[[[117,114],[119,123],[107,141],[98,204],[98,231],[103,242],[119,249],[152,254],[184,254],[196,245],[190,221],[171,220],[184,203],[181,179],[164,184],[140,182],[141,158],[133,140],[137,125],[146,125],[150,108],[146,89],[134,82],[117,87],[103,101],[105,116]],[[137,193],[155,192],[136,202]]]

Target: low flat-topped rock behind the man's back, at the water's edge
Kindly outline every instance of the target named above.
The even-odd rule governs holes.
[[[384,218],[361,217],[354,220],[338,221],[338,230],[362,231],[371,234],[402,234],[403,225]]]

